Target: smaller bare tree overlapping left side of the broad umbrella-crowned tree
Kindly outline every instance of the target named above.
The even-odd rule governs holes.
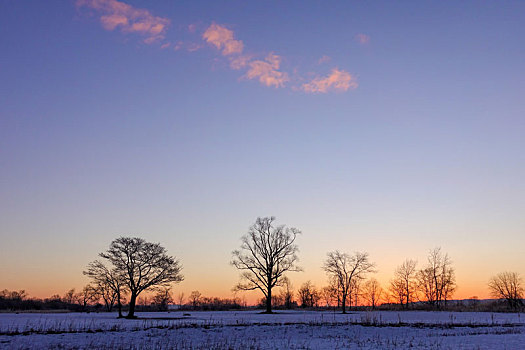
[[[117,267],[109,268],[102,261],[95,260],[89,263],[84,275],[93,280],[108,311],[117,302],[118,317],[122,318],[122,297],[126,294],[125,271]]]

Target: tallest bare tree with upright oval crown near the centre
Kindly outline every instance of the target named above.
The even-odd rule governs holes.
[[[266,298],[266,312],[272,312],[272,289],[282,285],[285,273],[301,271],[296,265],[300,231],[274,226],[275,217],[257,218],[241,238],[241,249],[232,252],[231,264],[241,270],[235,290],[260,290]]]

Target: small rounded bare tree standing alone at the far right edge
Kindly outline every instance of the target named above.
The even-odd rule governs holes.
[[[492,296],[505,299],[511,309],[523,307],[523,284],[520,275],[516,272],[501,272],[489,281]]]

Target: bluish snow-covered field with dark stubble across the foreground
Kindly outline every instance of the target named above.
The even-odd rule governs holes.
[[[0,314],[8,349],[525,349],[520,314],[256,311]]]

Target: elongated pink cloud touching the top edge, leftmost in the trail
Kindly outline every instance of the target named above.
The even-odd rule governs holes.
[[[151,44],[164,39],[170,20],[154,16],[117,0],[77,0],[77,7],[88,7],[101,13],[100,22],[106,30],[119,28],[123,33],[137,33]]]

